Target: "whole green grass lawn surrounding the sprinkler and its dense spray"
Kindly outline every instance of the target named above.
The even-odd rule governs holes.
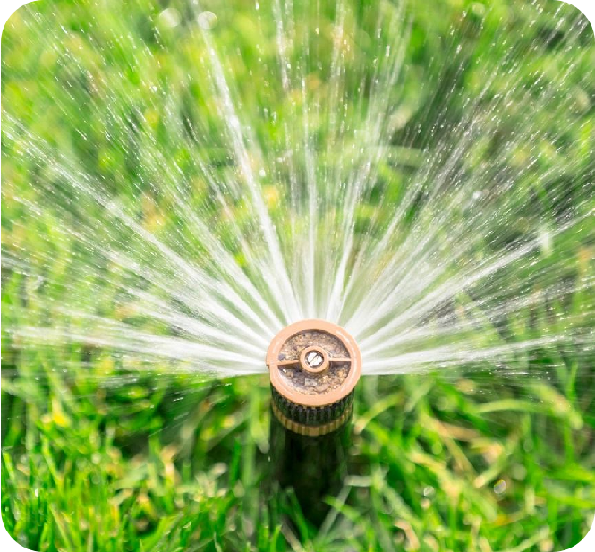
[[[131,276],[98,256],[100,248],[119,243],[130,243],[134,259],[146,254],[134,251],[126,228],[108,226],[114,219],[105,213],[107,200],[117,199],[164,242],[181,228],[193,248],[191,260],[200,259],[206,248],[191,234],[184,213],[204,214],[207,225],[218,225],[223,215],[212,183],[193,172],[191,140],[178,140],[183,124],[164,114],[174,106],[181,120],[208,135],[197,155],[213,174],[234,171],[209,91],[207,50],[187,32],[193,24],[190,3],[30,4],[11,16],[0,47],[3,551],[4,545],[48,552],[595,549],[595,81],[587,77],[595,63],[595,27],[576,34],[578,13],[558,26],[557,2],[495,0],[489,9],[466,0],[431,10],[421,2],[407,6],[406,78],[383,90],[387,104],[398,106],[391,111],[390,149],[399,162],[381,164],[382,193],[361,205],[357,232],[370,228],[370,213],[382,217],[383,199],[402,199],[404,183],[420,170],[426,152],[455,140],[451,131],[463,119],[465,98],[479,96],[494,67],[510,64],[515,82],[526,83],[529,94],[552,94],[531,103],[521,94],[525,89],[517,90],[505,117],[485,117],[489,139],[469,146],[462,165],[471,174],[483,164],[499,171],[506,159],[506,169],[517,172],[514,194],[522,209],[513,209],[494,230],[502,242],[527,228],[557,229],[573,217],[583,222],[558,232],[552,242],[544,230],[539,259],[501,276],[513,290],[520,281],[539,294],[559,281],[565,293],[553,299],[544,293],[543,301],[501,320],[494,333],[502,333],[505,343],[566,338],[536,344],[498,364],[474,361],[380,377],[365,376],[364,366],[350,475],[341,493],[327,499],[332,514],[314,528],[291,490],[281,496],[268,490],[271,413],[264,358],[262,374],[213,378],[192,373],[183,361],[174,369],[157,356],[123,353],[115,342],[52,342],[47,335],[26,339],[16,331],[69,325],[72,332],[96,335],[92,318],[73,321],[60,309],[76,304],[86,313],[170,335],[165,322],[133,311],[118,291]],[[293,129],[284,131],[263,110],[291,127],[301,93],[260,86],[278,55],[276,3],[256,3],[258,9],[254,2],[231,4],[205,2],[203,8],[217,13],[213,41],[226,53],[232,94],[242,98],[254,140],[275,152],[287,137],[293,140]],[[397,10],[398,2],[294,4],[296,36],[314,40],[316,28],[328,44],[336,36],[336,5],[347,6],[344,26],[353,30],[350,44],[359,52],[350,56],[346,50],[347,79],[373,78],[374,14],[378,6]],[[176,26],[174,16],[180,18]],[[513,55],[507,56],[511,44]],[[313,68],[319,61],[332,82],[325,73],[330,48],[305,55],[304,45],[294,45],[288,63]],[[309,83],[326,98],[332,90],[314,77]],[[531,88],[536,81],[543,87]],[[478,110],[506,95],[510,85],[491,81]],[[361,116],[370,98],[347,96],[345,117]],[[317,145],[332,153],[325,124],[312,121]],[[533,143],[511,146],[506,137],[523,124],[535,131]],[[136,132],[139,127],[142,132]],[[534,164],[527,163],[530,145],[540,151]],[[82,167],[98,179],[101,201],[62,185],[68,175],[51,162],[60,156],[75,178]],[[324,159],[326,166],[334,162],[330,154]],[[176,206],[165,185],[150,186],[177,168],[192,183],[187,206]],[[276,177],[283,180],[284,174]],[[276,200],[280,190],[278,182],[265,183],[263,190],[276,220],[285,205]],[[254,222],[247,205],[239,198],[230,218],[250,238]],[[416,209],[421,210],[413,208],[410,217]],[[232,230],[231,223],[222,225],[221,241],[250,273],[250,259],[242,259]],[[494,243],[487,241],[479,253],[488,254]],[[164,279],[174,277],[173,268],[156,263]],[[505,300],[506,285],[494,297]]]

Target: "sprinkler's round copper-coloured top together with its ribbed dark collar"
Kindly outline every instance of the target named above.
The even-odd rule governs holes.
[[[273,412],[286,429],[324,435],[351,415],[361,354],[344,328],[302,320],[279,332],[267,352]]]

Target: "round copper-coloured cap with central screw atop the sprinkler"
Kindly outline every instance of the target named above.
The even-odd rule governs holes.
[[[281,330],[267,352],[270,381],[287,400],[327,406],[349,395],[361,375],[361,354],[342,327],[302,320]]]

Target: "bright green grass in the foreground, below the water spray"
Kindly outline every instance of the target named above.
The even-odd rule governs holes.
[[[320,531],[290,493],[268,508],[266,378],[48,372],[2,395],[4,523],[43,550],[586,550],[595,394],[579,369],[364,378]]]

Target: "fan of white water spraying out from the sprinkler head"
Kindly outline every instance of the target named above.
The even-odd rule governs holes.
[[[353,334],[363,374],[388,374],[513,371],[537,346],[588,342],[586,23],[552,14],[522,49],[482,34],[488,11],[473,32],[500,52],[493,67],[463,37],[465,13],[439,89],[440,68],[408,57],[406,4],[339,0],[328,24],[306,4],[242,8],[255,41],[237,50],[233,10],[208,2],[148,13],[150,37],[127,14],[79,30],[59,5],[15,15],[3,82],[36,82],[32,101],[54,109],[3,114],[0,267],[34,305],[3,328],[11,347],[89,344],[246,374],[266,369],[282,327],[322,318]],[[19,40],[45,52],[43,71],[11,55]],[[545,69],[528,75],[539,55]],[[437,86],[412,98],[416,71]],[[566,140],[579,127],[584,143]],[[537,312],[551,324],[515,333]]]

